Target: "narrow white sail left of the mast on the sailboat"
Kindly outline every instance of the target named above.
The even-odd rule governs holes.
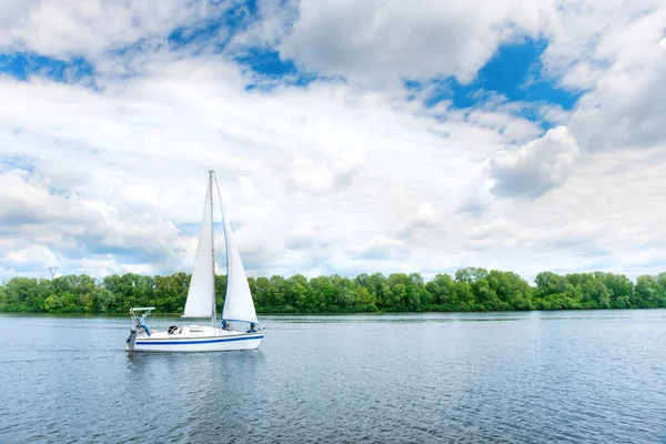
[[[194,270],[188,291],[183,317],[211,317],[215,299],[213,264],[213,220],[211,213],[211,186],[206,186],[201,234],[196,246]]]

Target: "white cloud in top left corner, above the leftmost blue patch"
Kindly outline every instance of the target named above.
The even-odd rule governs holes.
[[[215,16],[228,7],[208,1],[10,1],[0,14],[0,48],[56,58],[97,59],[142,39],[162,42],[179,26]]]

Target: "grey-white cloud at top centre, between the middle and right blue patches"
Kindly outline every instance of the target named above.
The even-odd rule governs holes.
[[[355,81],[441,74],[465,83],[501,42],[535,37],[544,7],[554,2],[306,0],[279,48],[309,70]]]

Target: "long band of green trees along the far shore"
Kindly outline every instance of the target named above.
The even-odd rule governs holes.
[[[64,275],[48,280],[13,278],[0,284],[0,312],[128,313],[155,306],[182,313],[190,274],[134,273],[103,280]],[[477,312],[666,307],[666,273],[634,283],[623,274],[539,273],[534,286],[513,272],[477,268],[425,281],[418,273],[360,274],[307,279],[250,278],[259,313]],[[226,276],[215,278],[218,310],[224,305]]]

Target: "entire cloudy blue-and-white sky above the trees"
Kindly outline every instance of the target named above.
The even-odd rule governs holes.
[[[666,271],[664,0],[0,8],[0,280]]]

